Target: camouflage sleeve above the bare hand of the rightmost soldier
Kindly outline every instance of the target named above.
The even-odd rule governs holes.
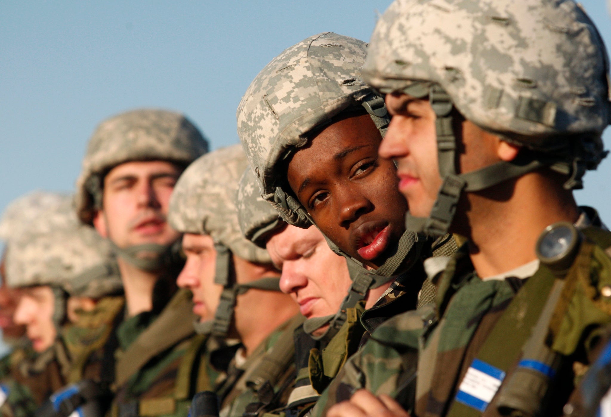
[[[371,339],[346,361],[312,408],[310,416],[326,415],[332,405],[348,400],[364,388],[372,393],[396,397],[404,381],[415,371],[420,328],[412,312],[393,317],[376,330]]]

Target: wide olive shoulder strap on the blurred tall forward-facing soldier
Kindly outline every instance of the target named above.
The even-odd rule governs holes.
[[[194,333],[189,291],[180,290],[161,314],[121,356],[115,366],[117,386],[127,382],[145,363]]]

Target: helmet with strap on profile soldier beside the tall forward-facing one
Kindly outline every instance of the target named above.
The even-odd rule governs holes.
[[[279,291],[277,278],[261,278],[247,285],[237,285],[232,279],[232,253],[252,263],[271,263],[267,251],[245,239],[238,225],[235,194],[247,165],[240,145],[205,154],[183,172],[170,198],[168,220],[172,228],[214,239],[214,281],[224,286],[213,324],[218,336],[227,335],[238,294],[249,288]]]

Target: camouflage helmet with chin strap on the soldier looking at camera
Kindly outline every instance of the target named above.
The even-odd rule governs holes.
[[[382,136],[389,124],[384,100],[359,79],[367,44],[332,32],[314,35],[285,49],[257,75],[241,100],[238,136],[260,184],[262,197],[291,225],[313,222],[279,172],[282,162],[308,143],[308,134],[346,109],[363,107]],[[367,274],[373,286],[408,269],[420,245],[406,232],[394,256]],[[351,259],[334,242],[334,252]],[[349,262],[351,264],[351,262]],[[408,265],[409,264],[409,265]],[[368,288],[368,286],[367,286]]]

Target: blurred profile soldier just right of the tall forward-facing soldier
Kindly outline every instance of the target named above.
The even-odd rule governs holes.
[[[247,164],[240,145],[202,156],[181,176],[170,203],[172,226],[186,233],[187,266],[199,269],[184,270],[179,285],[192,289],[195,311],[206,317],[213,302],[205,292],[214,281],[222,292],[211,333],[241,341],[216,387],[222,416],[286,404],[295,380],[293,330],[303,321],[295,302],[279,291],[279,272],[266,250],[240,232],[234,201]]]

